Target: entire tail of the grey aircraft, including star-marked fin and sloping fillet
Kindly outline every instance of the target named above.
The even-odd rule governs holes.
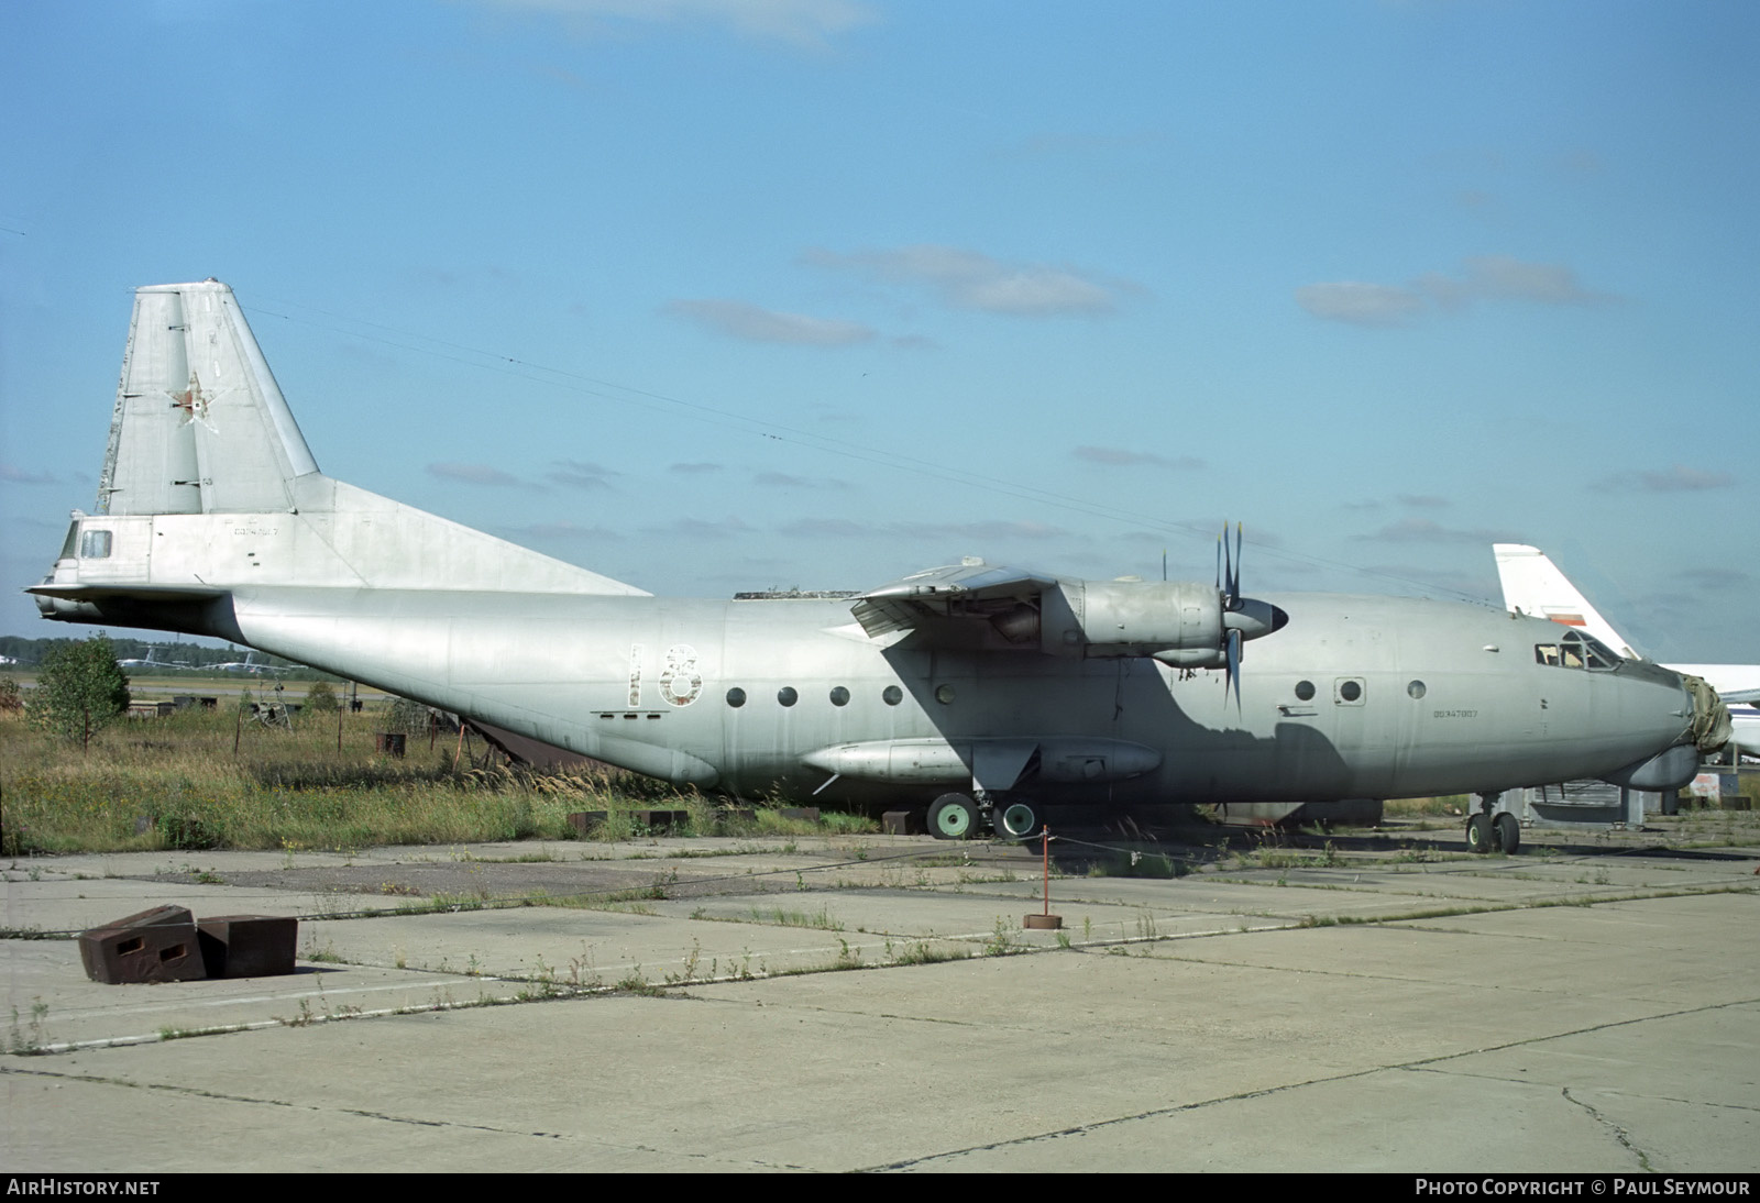
[[[44,617],[236,638],[266,589],[642,594],[320,473],[216,280],[136,290],[97,510],[30,589]]]

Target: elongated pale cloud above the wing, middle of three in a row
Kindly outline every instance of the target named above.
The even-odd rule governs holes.
[[[813,267],[850,271],[880,283],[931,288],[957,310],[1010,317],[1112,313],[1125,294],[1142,290],[1075,267],[1010,264],[959,246],[919,244],[850,255],[813,248],[801,259]]]

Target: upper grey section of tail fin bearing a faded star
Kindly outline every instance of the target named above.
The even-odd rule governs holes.
[[[232,290],[137,288],[99,512],[285,512],[317,470]]]

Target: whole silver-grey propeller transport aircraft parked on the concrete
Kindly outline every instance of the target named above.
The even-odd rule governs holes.
[[[136,292],[97,514],[46,617],[232,640],[678,786],[928,807],[959,839],[1045,804],[1325,802],[1684,784],[1716,695],[1492,607],[1077,580],[968,559],[868,593],[641,589],[333,480],[232,290]],[[1251,670],[1243,670],[1246,644]],[[1593,645],[1593,640],[1586,640]],[[1593,651],[1593,647],[1591,647]]]

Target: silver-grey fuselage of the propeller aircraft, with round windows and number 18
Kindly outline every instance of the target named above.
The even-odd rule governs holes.
[[[238,589],[227,637],[678,784],[855,804],[970,786],[998,732],[1074,756],[1021,781],[1042,798],[1318,800],[1605,772],[1691,714],[1674,674],[1538,663],[1538,619],[1272,600],[1299,619],[1253,645],[1239,711],[1220,670],[885,645],[838,600]]]

